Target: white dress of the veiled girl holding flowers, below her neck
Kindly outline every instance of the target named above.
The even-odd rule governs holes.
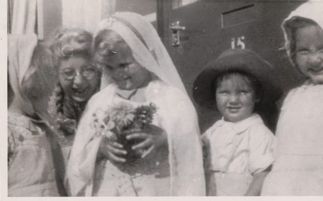
[[[159,79],[151,81],[144,94],[146,102],[140,104],[156,105],[152,124],[167,133],[168,153],[159,151],[151,159],[130,166],[96,161],[101,138],[91,139],[92,114],[124,101],[116,95],[116,86],[108,85],[90,99],[79,124],[67,173],[72,196],[205,195],[201,142],[191,102],[182,91]]]

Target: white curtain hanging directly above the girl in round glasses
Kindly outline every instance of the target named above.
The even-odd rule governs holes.
[[[62,25],[94,33],[101,19],[108,18],[116,0],[62,0]]]

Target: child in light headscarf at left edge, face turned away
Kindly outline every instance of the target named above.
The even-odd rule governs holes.
[[[36,34],[8,35],[8,197],[67,195],[44,110],[57,78],[54,67],[54,52]]]

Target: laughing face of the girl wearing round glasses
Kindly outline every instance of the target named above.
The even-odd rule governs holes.
[[[74,55],[61,61],[59,81],[66,95],[74,101],[84,102],[96,92],[100,78],[89,58]]]

